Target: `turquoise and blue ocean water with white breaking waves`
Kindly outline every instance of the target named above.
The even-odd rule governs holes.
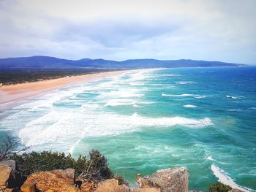
[[[1,106],[0,106],[1,108]],[[97,149],[116,174],[187,166],[189,188],[256,190],[256,67],[146,69],[1,110],[0,139],[30,150]]]

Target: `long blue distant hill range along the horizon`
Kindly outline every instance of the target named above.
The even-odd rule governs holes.
[[[75,61],[48,56],[0,58],[0,69],[142,69],[207,66],[244,66],[244,64],[231,64],[219,61],[195,61],[190,59],[165,61],[157,59],[130,59],[126,61],[110,61],[83,58]]]

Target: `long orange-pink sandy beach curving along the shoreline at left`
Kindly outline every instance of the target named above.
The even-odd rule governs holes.
[[[95,74],[85,74],[72,77],[63,77],[54,80],[44,80],[38,82],[27,82],[15,85],[4,85],[0,87],[0,104],[12,104],[23,99],[28,99],[32,96],[51,91],[56,88],[61,88],[75,82],[87,82],[96,80],[101,77],[111,76],[132,72],[135,70],[115,71],[115,72],[99,72]]]

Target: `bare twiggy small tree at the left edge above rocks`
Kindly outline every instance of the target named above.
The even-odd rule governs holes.
[[[23,147],[18,150],[18,139],[15,137],[6,136],[6,139],[0,143],[0,161],[3,161],[15,153],[27,150],[29,147]]]

